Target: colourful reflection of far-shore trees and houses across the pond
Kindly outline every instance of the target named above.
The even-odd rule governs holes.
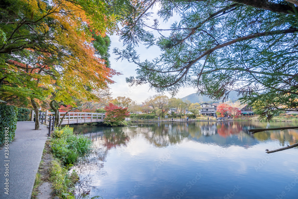
[[[86,134],[91,138],[104,136],[105,146],[108,149],[126,145],[130,137],[143,135],[146,140],[156,147],[166,147],[180,143],[184,139],[193,139],[200,142],[229,146],[231,138],[235,145],[254,145],[259,141],[278,140],[281,146],[285,143],[298,142],[298,131],[288,129],[283,131],[264,131],[251,134],[249,129],[275,128],[295,126],[294,123],[261,123],[261,122],[193,122],[193,123],[143,123],[138,127],[103,127],[73,125],[76,132],[93,132]],[[252,139],[251,139],[252,138]]]

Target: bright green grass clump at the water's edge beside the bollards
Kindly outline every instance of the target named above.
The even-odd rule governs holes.
[[[66,166],[74,164],[79,156],[91,152],[92,141],[83,135],[74,135],[73,128],[65,126],[52,133],[53,154]]]

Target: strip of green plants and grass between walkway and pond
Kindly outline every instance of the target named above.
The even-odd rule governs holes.
[[[75,135],[73,128],[69,126],[55,129],[52,138],[46,141],[32,198],[37,196],[38,186],[47,181],[52,183],[54,196],[74,199],[75,184],[79,181],[79,176],[75,169],[72,172],[69,170],[80,158],[91,152],[91,145],[89,138]]]

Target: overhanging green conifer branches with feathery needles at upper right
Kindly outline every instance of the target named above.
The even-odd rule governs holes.
[[[214,100],[235,90],[267,120],[281,110],[298,111],[297,0],[142,2],[119,13],[127,47],[114,53],[138,66],[128,83],[173,95],[193,87]],[[153,6],[159,19],[150,18]],[[163,29],[160,21],[173,17]],[[160,57],[141,61],[138,44],[158,46]]]

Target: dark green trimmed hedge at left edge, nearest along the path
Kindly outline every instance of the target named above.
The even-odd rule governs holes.
[[[0,103],[0,145],[11,142],[15,138],[17,114],[17,107]]]

